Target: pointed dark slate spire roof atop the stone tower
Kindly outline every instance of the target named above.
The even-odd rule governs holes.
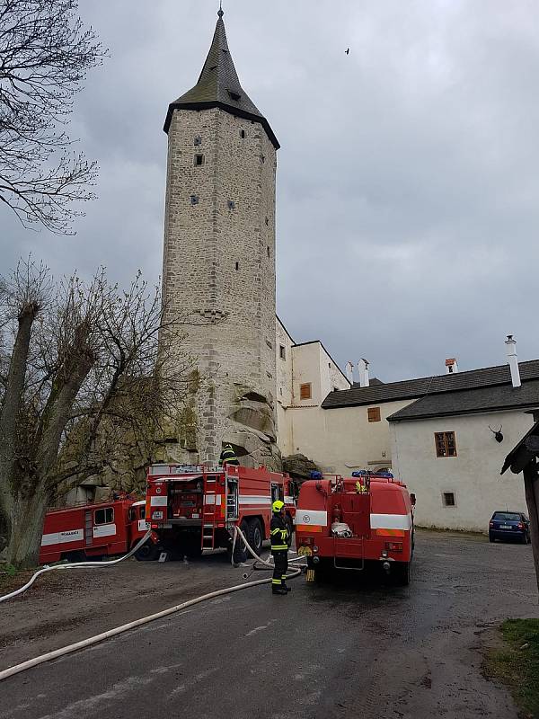
[[[233,115],[260,122],[271,142],[278,149],[278,139],[270,128],[270,123],[240,84],[226,41],[224,14],[220,7],[217,13],[216,31],[198,83],[189,92],[171,102],[163,129],[168,133],[174,110],[206,110],[220,107]]]

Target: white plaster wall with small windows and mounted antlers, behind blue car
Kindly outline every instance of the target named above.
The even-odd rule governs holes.
[[[393,472],[416,494],[416,523],[484,532],[496,510],[526,513],[522,477],[499,472],[533,423],[521,410],[390,422]],[[489,425],[503,425],[501,443]],[[457,456],[437,457],[434,434],[447,431],[455,432]],[[445,493],[455,506],[445,505]]]

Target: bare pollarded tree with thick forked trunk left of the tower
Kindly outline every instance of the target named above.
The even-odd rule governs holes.
[[[190,359],[181,320],[140,275],[121,292],[104,271],[55,283],[21,262],[3,282],[0,316],[0,514],[8,562],[31,566],[58,493],[114,467],[122,441],[144,444],[149,461],[181,410]]]

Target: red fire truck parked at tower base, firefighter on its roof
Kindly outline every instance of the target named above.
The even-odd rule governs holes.
[[[154,465],[147,476],[146,518],[172,557],[196,557],[205,549],[232,551],[234,526],[260,555],[270,537],[271,503],[285,502],[293,529],[296,484],[266,467]],[[238,558],[243,558],[238,546]]]

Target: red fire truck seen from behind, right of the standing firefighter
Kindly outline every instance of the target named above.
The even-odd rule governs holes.
[[[377,563],[410,582],[413,512],[405,484],[392,475],[320,475],[302,484],[296,547],[310,569],[364,569]]]

